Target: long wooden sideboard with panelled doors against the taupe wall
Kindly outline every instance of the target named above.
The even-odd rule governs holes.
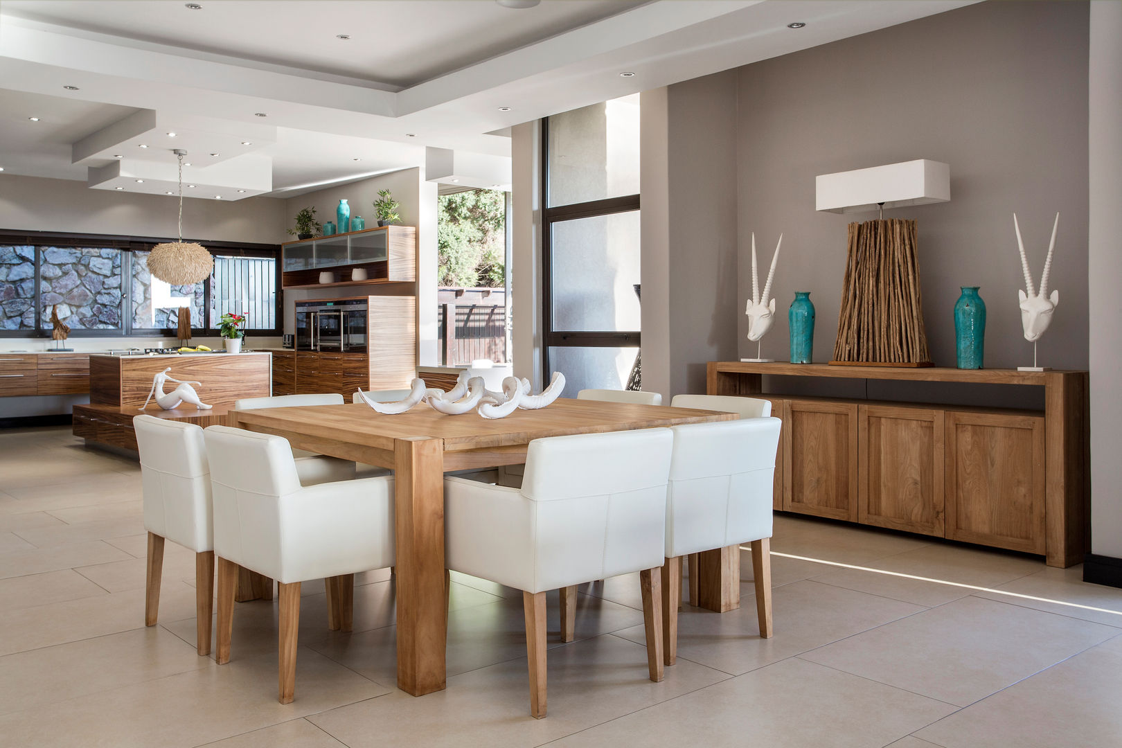
[[[1043,388],[1043,410],[801,397],[763,376]],[[709,362],[710,395],[770,399],[783,421],[775,509],[1083,561],[1086,371]]]

